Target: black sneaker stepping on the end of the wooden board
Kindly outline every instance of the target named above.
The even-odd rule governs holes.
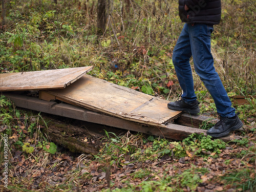
[[[169,102],[167,106],[170,110],[184,111],[186,113],[196,115],[200,112],[198,104],[198,101],[194,101],[193,103],[187,103],[183,99],[180,99],[175,102]]]

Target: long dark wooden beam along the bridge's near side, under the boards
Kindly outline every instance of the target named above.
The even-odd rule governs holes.
[[[141,124],[125,119],[120,119],[117,117],[113,117],[110,115],[97,113],[93,111],[89,111],[87,109],[84,109],[80,106],[74,106],[70,104],[65,103],[56,103],[54,101],[44,101],[33,97],[28,96],[22,96],[15,93],[4,93],[4,95],[10,100],[14,102],[16,106],[19,106],[20,108],[26,108],[30,110],[40,111],[44,113],[49,113],[53,115],[59,115],[63,117],[69,117],[73,119],[78,119],[82,121],[87,122],[93,122],[113,127],[118,127],[124,130],[131,130],[141,133],[146,133],[150,135],[156,135],[156,136],[162,136],[165,138],[175,139],[175,140],[182,140],[186,138],[188,135],[191,135],[193,133],[204,135],[206,134],[205,130],[196,129],[192,127],[187,127],[183,125],[168,123],[166,125],[146,125]],[[221,138],[225,142],[230,141],[234,138],[237,138],[234,136],[231,138],[230,136]]]

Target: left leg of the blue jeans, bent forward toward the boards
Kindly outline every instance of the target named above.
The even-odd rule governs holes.
[[[186,102],[194,102],[197,99],[194,90],[191,66],[189,63],[191,56],[192,53],[189,41],[188,25],[185,24],[173,51],[173,63],[180,87],[183,90],[181,97]]]

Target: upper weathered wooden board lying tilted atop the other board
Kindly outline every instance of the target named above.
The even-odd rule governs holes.
[[[45,71],[0,74],[0,91],[41,90],[66,88],[93,66]]]

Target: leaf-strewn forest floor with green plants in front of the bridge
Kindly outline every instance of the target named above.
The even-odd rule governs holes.
[[[44,130],[37,117],[30,121]],[[255,119],[248,119],[250,125],[247,122],[243,131],[232,133],[231,137],[242,138],[229,143],[202,136],[174,141],[122,130],[119,135],[106,132],[97,141],[100,150],[94,156],[71,153],[61,146],[50,151],[54,146],[40,140],[38,131],[31,136],[27,120],[19,118],[19,129],[13,129],[8,138],[12,146],[8,189],[1,191],[231,192],[254,191],[256,187]],[[89,137],[84,139],[95,143]],[[13,144],[20,140],[23,147]]]

